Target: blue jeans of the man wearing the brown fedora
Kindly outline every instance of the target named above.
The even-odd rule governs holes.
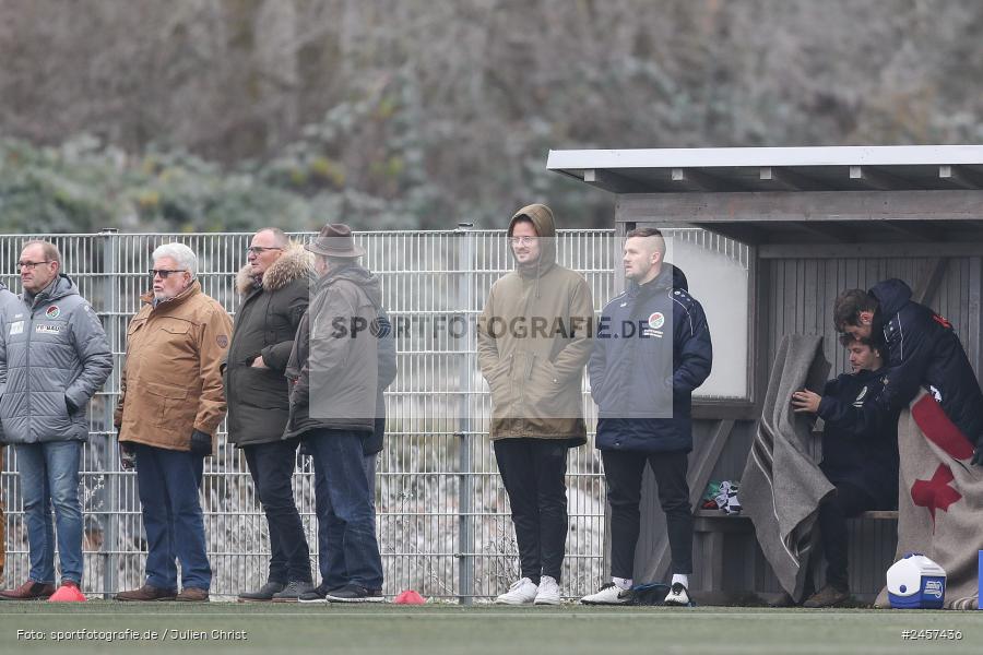
[[[382,558],[362,434],[313,430],[305,442],[315,463],[321,582],[329,590],[346,584],[381,590]]]

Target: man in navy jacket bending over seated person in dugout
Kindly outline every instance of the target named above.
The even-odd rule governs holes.
[[[972,463],[983,464],[983,392],[949,321],[913,301],[911,288],[900,279],[879,282],[869,291],[841,293],[833,320],[837,330],[855,338],[883,332],[888,369],[877,402],[885,410],[900,410],[919,389],[926,389],[976,444]]]

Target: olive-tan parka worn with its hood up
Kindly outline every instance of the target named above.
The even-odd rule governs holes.
[[[553,213],[542,204],[519,210],[540,236],[535,265],[517,267],[488,293],[478,319],[478,365],[492,390],[492,439],[587,441],[583,367],[590,358],[591,288],[556,263]]]

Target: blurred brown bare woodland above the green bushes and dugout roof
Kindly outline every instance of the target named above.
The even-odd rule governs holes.
[[[549,147],[979,141],[981,27],[974,0],[0,0],[0,131],[225,164],[316,133],[352,202],[590,223]]]

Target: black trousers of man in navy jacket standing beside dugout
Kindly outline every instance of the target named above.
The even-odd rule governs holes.
[[[633,451],[601,451],[604,477],[607,479],[607,502],[611,504],[611,574],[632,577],[635,547],[638,544],[642,474],[646,464],[652,468],[659,486],[659,502],[665,512],[672,573],[692,573],[692,510],[689,507],[689,484],[686,453],[642,453]]]

